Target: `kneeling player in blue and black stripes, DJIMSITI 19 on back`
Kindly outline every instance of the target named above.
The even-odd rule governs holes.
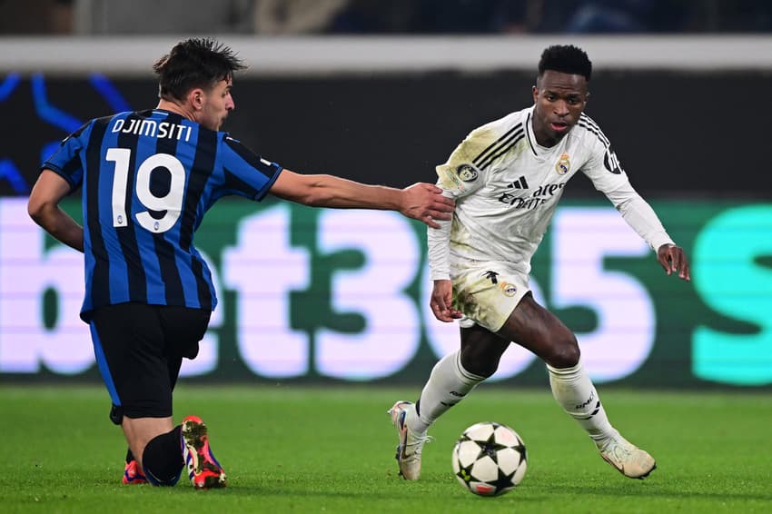
[[[452,202],[431,184],[398,190],[331,175],[302,175],[263,159],[220,128],[233,111],[233,73],[244,67],[211,39],[189,39],[153,65],[155,109],[91,120],[43,166],[29,213],[84,252],[81,317],[129,444],[124,483],[173,485],[184,466],[197,489],[225,473],[196,416],[173,426],[172,391],[217,303],[193,246],[203,214],[225,195],[266,193],[306,205],[388,209],[437,226]],[[58,206],[83,190],[81,227]]]

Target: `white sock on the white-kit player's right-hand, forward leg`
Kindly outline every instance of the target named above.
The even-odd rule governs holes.
[[[589,380],[581,361],[573,368],[564,369],[552,368],[548,364],[547,370],[552,396],[570,417],[579,422],[596,445],[617,433],[609,423],[598,391]]]

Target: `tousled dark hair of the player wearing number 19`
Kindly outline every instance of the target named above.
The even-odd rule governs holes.
[[[196,87],[211,89],[244,68],[231,48],[210,38],[181,41],[153,64],[158,74],[158,96],[164,100],[183,100]]]

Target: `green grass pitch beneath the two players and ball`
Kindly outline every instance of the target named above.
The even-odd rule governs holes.
[[[549,386],[548,386],[549,387]],[[430,433],[423,474],[393,460],[386,415],[419,388],[199,387],[182,384],[175,419],[195,413],[228,472],[227,489],[123,486],[125,445],[101,387],[0,386],[0,510],[10,512],[772,512],[772,398],[766,392],[599,388],[609,417],[657,459],[645,480],[599,458],[549,389],[483,385]],[[518,430],[529,450],[520,487],[462,490],[450,450],[474,422]]]

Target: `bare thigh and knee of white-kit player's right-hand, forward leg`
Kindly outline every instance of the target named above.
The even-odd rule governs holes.
[[[573,332],[555,314],[539,305],[530,292],[497,333],[556,368],[573,366],[579,361],[579,345]]]

